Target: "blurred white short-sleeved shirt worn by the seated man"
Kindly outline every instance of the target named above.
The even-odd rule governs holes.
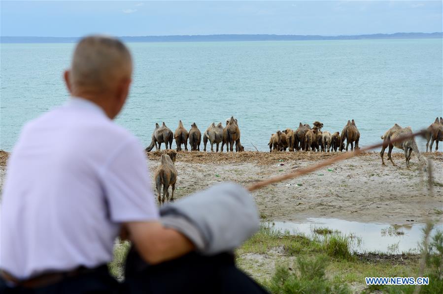
[[[158,219],[139,141],[81,98],[26,124],[8,160],[0,267],[23,279],[112,260],[122,222]]]

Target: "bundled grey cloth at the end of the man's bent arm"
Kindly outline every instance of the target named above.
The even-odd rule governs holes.
[[[188,236],[205,255],[232,251],[257,232],[260,220],[248,191],[223,183],[160,209],[161,221]]]

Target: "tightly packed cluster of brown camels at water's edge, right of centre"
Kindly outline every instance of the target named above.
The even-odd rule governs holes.
[[[360,140],[360,132],[355,125],[355,121],[352,119],[347,121],[343,130],[340,132],[335,132],[331,134],[328,131],[322,131],[323,123],[320,121],[314,121],[313,127],[311,128],[309,124],[303,124],[300,122],[299,127],[294,131],[287,128],[283,132],[277,131],[275,134],[271,135],[269,140],[270,152],[273,150],[277,151],[337,151],[339,149],[348,150],[349,145],[351,145],[351,150],[358,147],[358,141]],[[346,140],[346,147],[344,147],[344,140]]]

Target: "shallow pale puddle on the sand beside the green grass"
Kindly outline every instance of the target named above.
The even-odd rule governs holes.
[[[350,251],[357,253],[419,253],[418,243],[422,240],[423,223],[390,225],[380,223],[360,223],[333,218],[308,218],[305,223],[271,221],[270,225],[279,232],[303,234],[324,238],[314,233],[315,229],[328,228],[339,231],[341,235],[350,236]],[[443,231],[443,224],[437,224],[431,237],[437,230]]]

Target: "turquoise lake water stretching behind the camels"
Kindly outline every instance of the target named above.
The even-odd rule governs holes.
[[[174,131],[179,119],[204,131],[233,115],[245,149],[267,150],[271,133],[299,122],[334,132],[353,118],[365,146],[396,122],[418,130],[443,116],[441,39],[128,45],[135,74],[117,122],[146,146],[156,122]],[[1,149],[68,99],[73,46],[1,44]]]

